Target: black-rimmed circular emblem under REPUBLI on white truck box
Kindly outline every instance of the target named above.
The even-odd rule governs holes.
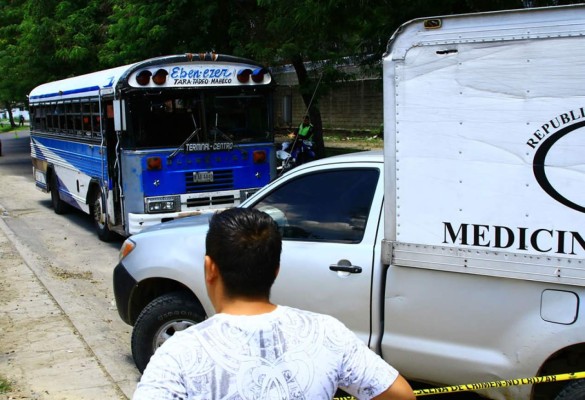
[[[585,212],[585,190],[568,182],[585,182],[585,121],[564,127],[548,137],[536,150],[532,169],[538,184],[553,199]],[[570,150],[570,151],[567,151]]]

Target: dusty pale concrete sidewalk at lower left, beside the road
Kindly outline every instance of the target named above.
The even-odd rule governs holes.
[[[0,208],[0,213],[3,210]],[[0,216],[0,399],[127,399],[33,272]]]

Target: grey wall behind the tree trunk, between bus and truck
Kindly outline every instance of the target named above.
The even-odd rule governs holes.
[[[277,83],[278,77],[276,77]],[[287,98],[288,97],[288,98]],[[285,106],[286,105],[286,106]],[[286,111],[290,107],[292,113]],[[319,99],[323,129],[341,131],[382,130],[382,80],[364,79],[342,82]],[[274,98],[275,125],[280,129],[296,128],[306,112],[295,85],[279,85]]]

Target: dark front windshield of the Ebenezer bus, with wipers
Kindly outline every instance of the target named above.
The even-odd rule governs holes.
[[[272,140],[269,95],[258,91],[165,92],[128,98],[133,148],[188,143],[257,143]],[[189,140],[187,140],[189,139]]]

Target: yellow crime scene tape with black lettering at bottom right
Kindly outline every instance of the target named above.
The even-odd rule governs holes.
[[[429,396],[433,394],[445,394],[455,392],[468,392],[473,390],[482,390],[490,388],[500,388],[506,386],[519,386],[519,385],[532,385],[536,383],[550,383],[550,382],[561,382],[569,381],[572,379],[585,378],[584,372],[570,372],[567,374],[558,375],[547,375],[547,376],[535,376],[532,378],[518,378],[518,379],[506,379],[503,381],[493,382],[480,382],[480,383],[468,383],[464,385],[446,386],[440,388],[428,388],[428,389],[417,389],[414,390],[415,396]],[[334,400],[355,400],[353,396],[334,397]]]

